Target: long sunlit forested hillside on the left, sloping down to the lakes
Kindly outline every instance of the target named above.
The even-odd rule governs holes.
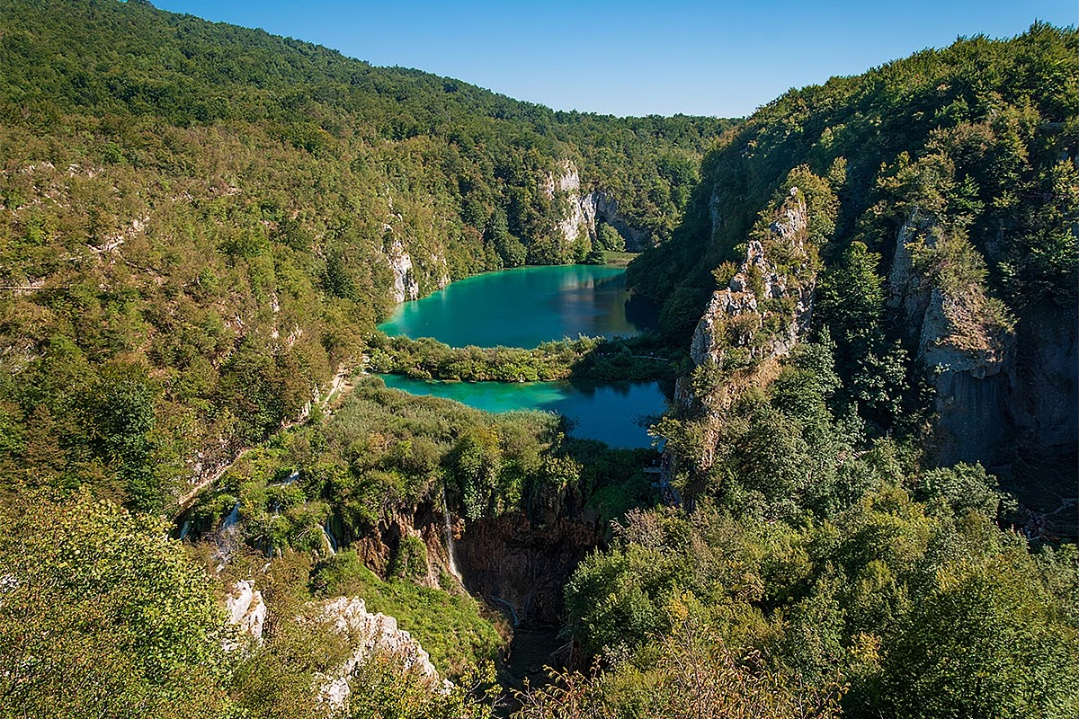
[[[664,241],[729,124],[554,112],[145,2],[15,0],[0,42],[0,462],[141,509],[299,416],[395,302]]]

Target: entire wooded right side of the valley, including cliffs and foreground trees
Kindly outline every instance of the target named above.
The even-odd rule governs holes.
[[[658,427],[692,512],[568,585],[593,716],[1079,710],[1077,79],[1074,29],[960,40],[706,156],[629,269],[696,365]]]

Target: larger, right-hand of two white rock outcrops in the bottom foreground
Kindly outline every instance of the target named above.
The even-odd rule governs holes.
[[[349,699],[349,677],[373,654],[399,658],[406,669],[418,670],[432,691],[445,691],[448,683],[438,677],[431,656],[408,632],[397,628],[397,620],[382,612],[370,613],[359,597],[338,597],[323,604],[323,617],[353,646],[352,656],[332,676],[326,676],[320,693],[331,710]]]

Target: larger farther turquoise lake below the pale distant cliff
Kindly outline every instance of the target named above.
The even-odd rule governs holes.
[[[654,328],[658,309],[626,290],[626,271],[603,265],[518,267],[450,284],[398,305],[388,335],[434,337],[451,347],[532,348],[578,334],[612,337]]]

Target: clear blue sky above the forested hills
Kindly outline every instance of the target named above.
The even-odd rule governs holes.
[[[373,65],[457,78],[559,110],[752,112],[959,36],[1079,24],[1079,0],[155,0]]]

